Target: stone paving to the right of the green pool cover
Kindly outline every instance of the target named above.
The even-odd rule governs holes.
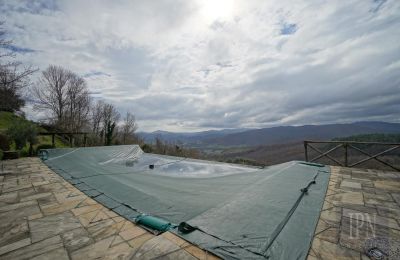
[[[400,259],[400,173],[331,167],[308,259]]]

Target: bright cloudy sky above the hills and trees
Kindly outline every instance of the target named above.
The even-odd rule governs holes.
[[[0,18],[20,60],[84,76],[139,130],[400,122],[399,0],[0,0]]]

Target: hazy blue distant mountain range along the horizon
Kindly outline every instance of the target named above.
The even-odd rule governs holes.
[[[280,143],[299,142],[307,139],[330,140],[358,134],[400,133],[399,123],[356,122],[349,124],[278,126],[261,129],[224,129],[196,133],[172,133],[156,131],[140,132],[146,142],[156,138],[163,141],[181,143],[187,146],[261,146]]]

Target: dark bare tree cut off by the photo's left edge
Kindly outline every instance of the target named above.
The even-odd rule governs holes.
[[[29,77],[36,72],[32,66],[15,61],[12,41],[5,38],[4,21],[0,21],[0,111],[19,111],[24,105],[22,91],[30,84]]]

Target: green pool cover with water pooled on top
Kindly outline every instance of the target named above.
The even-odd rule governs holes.
[[[319,164],[260,169],[137,145],[48,149],[41,157],[114,212],[225,259],[305,259],[330,174]]]

